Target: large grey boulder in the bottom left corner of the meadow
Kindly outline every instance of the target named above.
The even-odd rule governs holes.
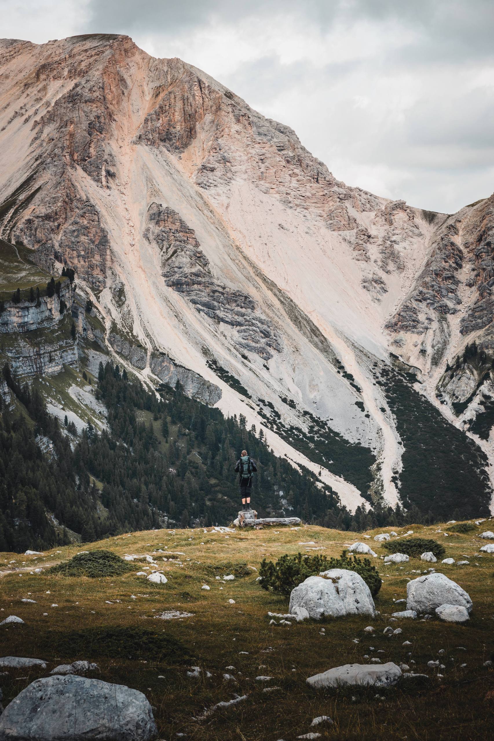
[[[150,741],[156,735],[142,692],[74,674],[36,679],[0,716],[0,741]]]

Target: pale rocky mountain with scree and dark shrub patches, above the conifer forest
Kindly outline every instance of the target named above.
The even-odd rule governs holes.
[[[349,187],[288,126],[128,36],[0,43],[14,374],[94,373],[110,353],[261,426],[352,511],[487,513],[494,197],[447,215]],[[94,405],[70,389],[81,427]]]

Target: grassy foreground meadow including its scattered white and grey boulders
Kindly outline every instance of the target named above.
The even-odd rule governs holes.
[[[354,538],[304,525],[159,530],[0,554],[0,740],[485,739],[492,523]],[[447,557],[385,562],[383,534],[435,540]],[[265,556],[337,557],[365,540],[376,555],[358,557],[383,579],[374,597],[345,569],[292,597],[260,587]],[[125,568],[113,558],[102,576],[108,551]]]

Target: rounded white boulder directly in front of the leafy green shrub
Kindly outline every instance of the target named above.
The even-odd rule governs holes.
[[[331,568],[320,576],[309,576],[292,590],[291,614],[300,617],[342,617],[375,615],[372,594],[366,582],[355,571]]]

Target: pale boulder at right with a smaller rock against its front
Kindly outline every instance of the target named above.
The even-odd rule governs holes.
[[[464,589],[444,574],[426,574],[406,585],[406,608],[416,612],[432,612],[441,605],[459,605],[467,612],[472,600]]]

